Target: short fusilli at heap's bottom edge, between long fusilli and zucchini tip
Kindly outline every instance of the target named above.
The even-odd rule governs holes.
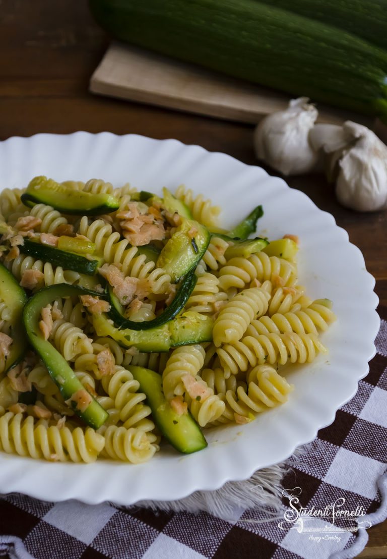
[[[125,427],[109,425],[99,431],[103,432],[105,439],[103,456],[113,460],[141,464],[150,460],[159,448],[153,442],[155,437],[151,438],[142,429],[133,427],[125,429]]]

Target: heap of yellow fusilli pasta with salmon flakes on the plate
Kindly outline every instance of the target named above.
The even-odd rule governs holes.
[[[44,179],[39,177],[40,182]],[[173,213],[174,203],[181,207],[173,197],[172,210],[167,211],[169,205],[165,200],[156,195],[144,195],[144,192],[139,195],[129,183],[116,187],[102,179],[90,179],[61,184],[71,197],[78,196],[80,200],[85,198],[82,192],[88,192],[114,196],[117,201],[113,200],[113,206],[103,210],[106,211],[104,215],[90,212],[78,217],[71,212],[64,215],[44,203],[27,207],[21,202],[24,190],[6,188],[0,193],[0,221],[6,231],[0,260],[27,290],[27,295],[35,296],[40,288],[61,283],[93,290],[83,291],[88,295],[81,297],[59,297],[45,307],[45,312],[40,311],[41,333],[68,362],[70,378],[79,390],[70,391],[71,397],[65,400],[67,393],[52,368],[49,367],[50,372],[47,370],[46,358],[39,355],[40,350],[28,350],[19,368],[11,368],[6,376],[0,377],[0,451],[49,461],[93,462],[99,457],[140,464],[159,450],[160,436],[155,423],[160,425],[160,430],[162,424],[157,419],[159,408],[154,409],[154,423],[151,408],[156,406],[151,397],[146,399],[147,384],[142,383],[138,369],[133,368],[133,373],[128,370],[130,366],[158,373],[152,373],[149,382],[155,382],[159,391],[161,382],[162,393],[158,397],[163,399],[163,406],[177,415],[173,415],[174,425],[179,423],[178,416],[188,414],[189,421],[193,421],[193,417],[200,427],[206,428],[247,423],[257,414],[284,404],[293,386],[283,376],[285,368],[281,368],[281,374],[276,368],[287,363],[310,363],[319,353],[326,352],[319,335],[327,330],[335,315],[330,301],[312,301],[305,288],[298,285],[295,236],[290,243],[292,250],[286,251],[289,259],[282,258],[285,253],[278,248],[289,247],[289,241],[284,239],[272,244],[271,250],[264,249],[278,256],[256,252],[247,258],[231,258],[232,251],[227,252],[227,249],[238,241],[229,239],[218,229],[219,208],[181,185],[176,198],[187,205],[194,220],[211,231],[218,231],[211,234],[207,231],[206,243],[209,239],[209,244],[205,252],[206,245],[203,245],[200,259],[196,241],[199,225],[196,228],[190,221],[184,223],[184,216]],[[109,209],[114,211],[109,213]],[[171,271],[170,264],[174,262],[175,253],[171,253],[171,260],[168,250],[161,257],[159,253],[174,238],[179,226],[186,224],[189,225],[187,231],[179,229],[183,241],[177,244],[175,253],[180,246],[187,245],[184,235],[188,235],[189,252],[197,256],[192,260],[192,267],[183,267],[184,274],[180,271],[177,274]],[[141,249],[142,244],[149,242],[144,231],[152,231],[152,228],[157,229],[157,233],[151,236],[150,244]],[[141,237],[140,231],[144,236]],[[59,250],[63,246],[59,243],[61,235],[73,238],[63,239],[63,245],[75,247],[75,253],[79,250],[84,258],[99,259],[98,274],[87,276],[55,267],[51,262],[22,252],[28,249],[27,244],[22,248],[24,236]],[[87,240],[95,244],[95,250]],[[257,249],[258,244],[248,244],[249,250]],[[238,247],[235,248],[233,254],[238,254]],[[90,254],[83,250],[90,250]],[[70,250],[65,252],[74,254]],[[155,263],[163,261],[163,257],[165,269],[158,268]],[[64,262],[69,260],[64,259]],[[73,263],[69,267],[79,269]],[[174,326],[179,324],[180,327],[180,323],[163,323],[164,313],[174,297],[181,295],[180,286],[187,286],[181,280],[193,270],[197,282],[185,299],[184,307],[180,305],[179,312],[188,311],[197,322],[192,320],[191,324],[188,320],[183,326],[184,335],[188,337],[176,340]],[[171,282],[171,276],[178,278],[176,283]],[[121,310],[119,305],[112,309],[114,299],[108,301],[106,282],[122,305]],[[125,337],[130,343],[136,337],[127,333],[125,324],[120,323],[121,338],[118,335],[115,338],[120,340],[121,346],[106,335],[112,332],[110,326],[118,329],[117,319],[113,320],[114,312],[121,312],[124,319],[136,323],[161,319],[157,336],[160,335],[161,340],[165,335],[165,345],[157,339],[158,352],[145,353],[152,347],[154,329],[147,330],[149,325],[146,324],[131,324],[129,330],[133,330],[133,326],[136,330],[140,328],[136,335],[144,336],[146,344],[133,342],[133,347],[128,349]],[[93,316],[94,313],[103,313],[103,316]],[[106,321],[109,328],[99,329],[94,320],[97,318],[101,318],[102,323]],[[208,333],[202,338],[191,331],[199,321],[203,321],[206,328],[208,325]],[[11,326],[12,308],[7,297],[0,297],[0,374],[6,368],[7,352],[12,347]],[[146,339],[147,331],[151,342]],[[195,339],[206,342],[194,343]],[[186,345],[176,347],[179,343]],[[136,349],[137,345],[141,352]],[[163,348],[165,352],[159,353]],[[23,392],[27,394],[22,396]],[[85,404],[87,409],[88,402],[93,399],[102,417],[108,415],[98,430],[86,425],[80,427],[75,415],[81,412],[81,419],[84,419],[82,406]],[[93,423],[90,421],[90,424]],[[164,430],[163,427],[163,433]]]

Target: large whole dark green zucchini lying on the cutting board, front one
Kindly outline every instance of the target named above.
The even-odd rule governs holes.
[[[89,0],[116,39],[314,101],[387,119],[387,53],[251,0]]]

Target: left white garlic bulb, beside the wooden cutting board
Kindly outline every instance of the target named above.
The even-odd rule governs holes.
[[[308,97],[293,99],[285,111],[267,115],[255,129],[257,158],[285,175],[315,169],[319,154],[309,144],[308,136],[317,116],[317,108]]]

